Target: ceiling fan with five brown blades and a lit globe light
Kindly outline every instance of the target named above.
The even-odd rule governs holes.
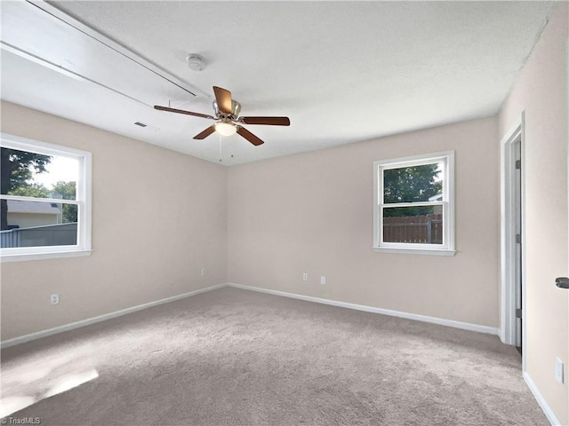
[[[288,117],[240,117],[241,104],[234,99],[231,99],[231,92],[217,86],[213,86],[215,93],[215,100],[213,101],[213,110],[215,116],[207,114],[192,113],[191,111],[184,111],[183,109],[170,108],[168,106],[155,105],[155,109],[160,111],[167,111],[170,113],[194,115],[196,117],[208,118],[215,120],[215,124],[198,133],[195,139],[204,139],[210,136],[214,131],[219,132],[223,136],[239,134],[247,139],[254,146],[263,143],[260,138],[257,138],[249,130],[246,130],[241,124],[264,124],[268,126],[290,126],[291,121]]]

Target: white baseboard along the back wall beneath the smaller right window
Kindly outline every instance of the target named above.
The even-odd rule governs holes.
[[[330,304],[333,306],[340,306],[341,308],[355,309],[357,311],[381,313],[382,315],[389,315],[391,317],[400,317],[405,319],[414,319],[417,321],[430,322],[432,324],[438,324],[440,326],[461,328],[463,330],[477,331],[478,333],[485,333],[488,335],[498,335],[497,327],[479,326],[477,324],[471,324],[469,322],[454,321],[453,319],[444,319],[437,317],[429,317],[427,315],[419,315],[417,313],[408,313],[400,311],[392,311],[390,309],[376,308],[373,306],[366,306],[365,304],[349,304],[347,302],[339,302],[337,300],[323,299],[320,297],[313,296],[303,296],[294,293],[286,293],[284,291],[270,290],[268,288],[259,288],[244,286],[243,284],[236,284],[234,282],[229,282],[228,287],[243,288],[244,290],[259,291],[260,293],[267,293],[274,296],[284,296],[292,297],[293,299],[306,300],[308,302],[316,302],[317,304]]]

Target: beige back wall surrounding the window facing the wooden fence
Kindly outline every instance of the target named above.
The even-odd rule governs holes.
[[[497,139],[485,118],[229,169],[228,280],[498,327]],[[457,255],[373,252],[373,162],[450,149]]]

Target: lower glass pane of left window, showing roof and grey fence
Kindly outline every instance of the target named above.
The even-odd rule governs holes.
[[[0,246],[44,247],[77,244],[77,206],[42,201],[0,200]],[[5,220],[5,222],[4,222]]]

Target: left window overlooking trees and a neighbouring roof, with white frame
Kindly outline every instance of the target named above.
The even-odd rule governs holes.
[[[91,153],[2,133],[0,259],[91,253]]]

